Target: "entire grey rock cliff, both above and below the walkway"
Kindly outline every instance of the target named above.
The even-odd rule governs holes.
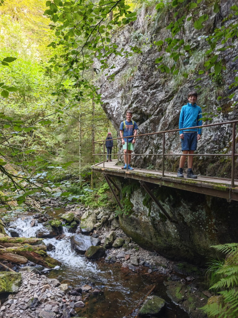
[[[109,66],[114,66],[109,75],[113,75],[114,80],[111,80],[109,75],[101,75],[98,80],[102,107],[118,132],[128,108],[134,113],[133,119],[138,123],[139,134],[177,129],[181,107],[187,103],[188,92],[195,89],[199,93],[197,104],[202,107],[203,112],[208,113],[207,116],[212,117],[212,123],[238,118],[238,108],[237,105],[234,106],[234,101],[238,100],[238,89],[229,88],[234,77],[238,75],[238,59],[235,60],[238,56],[237,50],[217,53],[224,54],[223,63],[226,66],[226,70],[222,70],[219,76],[198,74],[207,58],[207,34],[212,34],[215,27],[222,24],[222,19],[228,16],[229,8],[235,1],[221,0],[220,13],[217,14],[213,13],[211,3],[206,2],[202,8],[204,13],[209,15],[205,28],[195,30],[191,21],[184,24],[184,40],[192,48],[193,54],[188,57],[184,52],[181,70],[177,75],[160,72],[155,59],[160,57],[163,48],[162,52],[159,52],[157,47],[151,46],[154,41],[171,36],[166,29],[174,13],[171,8],[165,7],[156,12],[154,7],[144,7],[134,25],[114,35],[119,47],[128,51],[130,45],[142,47],[142,54],[134,54],[127,59],[111,56]],[[234,22],[233,20],[227,23]],[[237,38],[234,41],[237,43]],[[172,62],[168,54],[168,66],[172,66]],[[189,74],[187,79],[182,76],[183,68],[186,68]],[[199,77],[202,79],[197,81]],[[196,87],[198,83],[199,87]],[[232,100],[218,99],[220,95],[226,97],[231,93],[235,93]],[[204,122],[209,123],[211,122]],[[198,142],[198,152],[231,153],[231,128],[231,125],[204,128],[202,139]],[[236,129],[236,142],[237,136]],[[121,148],[121,142],[118,142],[118,146]],[[166,153],[181,153],[178,132],[165,135],[165,147]],[[235,152],[238,152],[237,144]],[[162,153],[162,135],[137,138],[135,153]],[[161,156],[134,156],[133,160],[133,165],[137,167],[161,169]],[[230,158],[224,157],[195,157],[194,172],[229,177],[230,162]],[[165,169],[176,171],[177,168],[178,157],[167,157]],[[238,177],[238,169],[235,177]],[[210,249],[211,245],[238,239],[236,202],[227,203],[220,198],[154,186],[152,190],[157,200],[174,220],[169,222],[160,209],[146,197],[139,183],[128,193],[125,189],[123,191],[123,188],[132,186],[131,181],[127,180],[125,183],[124,179],[118,177],[116,182],[122,189],[121,198],[124,200],[123,204],[127,204],[126,212],[130,208],[133,211],[130,217],[125,214],[121,216],[121,226],[143,247],[156,250],[172,259],[187,259],[204,264],[207,262],[206,257],[215,257]],[[122,193],[127,193],[124,199]]]

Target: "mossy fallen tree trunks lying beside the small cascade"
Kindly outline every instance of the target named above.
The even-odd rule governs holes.
[[[56,265],[61,265],[58,260],[47,255],[46,246],[44,245],[32,246],[29,244],[20,245],[19,243],[14,245],[17,246],[2,246],[3,248],[0,248],[0,259],[8,260],[16,264],[25,264],[30,260],[33,263],[47,268],[54,268]]]

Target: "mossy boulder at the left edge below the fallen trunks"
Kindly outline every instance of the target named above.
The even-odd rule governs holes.
[[[21,273],[0,272],[0,294],[17,293],[21,286]]]

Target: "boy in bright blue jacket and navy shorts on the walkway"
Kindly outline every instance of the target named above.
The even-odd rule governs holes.
[[[179,129],[186,127],[202,126],[202,109],[196,105],[197,92],[188,93],[188,103],[180,112]],[[190,128],[179,131],[183,154],[193,154],[197,150],[197,141],[201,138],[202,128]],[[187,156],[181,156],[177,176],[183,178],[183,166]],[[197,179],[193,173],[193,156],[188,156],[187,178]]]

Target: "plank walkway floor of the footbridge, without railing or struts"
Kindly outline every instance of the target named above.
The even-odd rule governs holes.
[[[238,180],[235,180],[235,188],[231,188],[231,179],[215,178],[207,176],[198,176],[197,179],[178,178],[174,172],[165,172],[162,176],[162,171],[138,169],[126,171],[121,169],[121,166],[116,165],[118,161],[113,159],[112,162],[98,163],[92,166],[93,171],[102,172],[111,176],[124,176],[136,180],[142,180],[148,183],[155,183],[160,186],[168,186],[177,189],[202,193],[215,197],[225,198],[228,201],[238,201]]]

